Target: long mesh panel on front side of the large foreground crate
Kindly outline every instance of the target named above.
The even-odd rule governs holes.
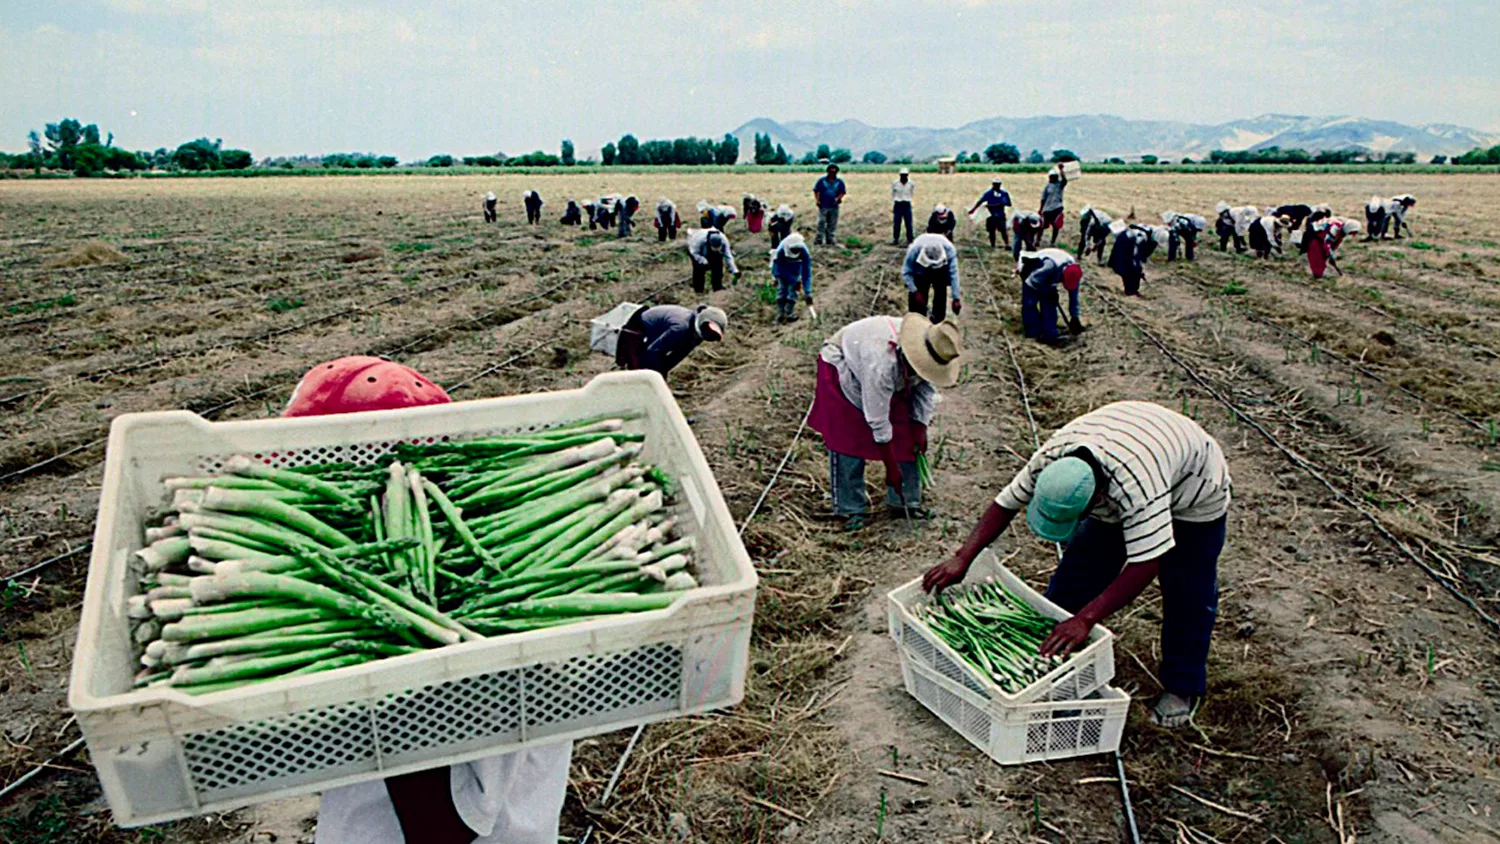
[[[183,756],[201,802],[232,799],[670,711],[681,682],[682,648],[648,645],[192,733]]]

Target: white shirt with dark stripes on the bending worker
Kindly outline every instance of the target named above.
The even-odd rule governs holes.
[[[1173,520],[1212,522],[1228,511],[1228,463],[1218,441],[1198,423],[1150,402],[1114,402],[1062,426],[994,502],[1024,508],[1036,475],[1078,450],[1088,450],[1107,477],[1089,516],[1122,525],[1125,562],[1172,550]]]

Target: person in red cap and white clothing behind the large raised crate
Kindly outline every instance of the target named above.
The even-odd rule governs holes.
[[[411,367],[375,357],[318,364],[285,417],[444,405],[447,393]],[[504,753],[322,793],[316,844],[554,844],[573,742]]]

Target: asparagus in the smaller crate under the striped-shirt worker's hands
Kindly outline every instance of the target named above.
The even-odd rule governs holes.
[[[1038,654],[1058,622],[993,580],[945,589],[916,615],[964,661],[1010,694],[1062,664],[1056,657]]]

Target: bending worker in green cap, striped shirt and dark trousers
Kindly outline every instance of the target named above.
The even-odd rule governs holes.
[[[1042,642],[1044,657],[1083,645],[1094,625],[1158,580],[1164,691],[1150,717],[1180,727],[1208,690],[1230,498],[1224,451],[1198,423],[1150,402],[1104,405],[1032,454],[922,588],[963,580],[1023,508],[1034,535],[1065,546],[1047,597],[1074,615]]]

